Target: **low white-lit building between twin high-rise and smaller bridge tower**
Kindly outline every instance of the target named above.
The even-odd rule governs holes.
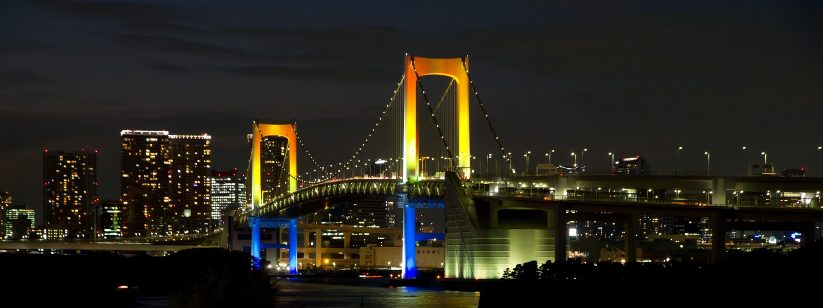
[[[238,209],[246,204],[246,177],[234,168],[225,172],[212,170],[212,220],[222,220],[225,209]]]

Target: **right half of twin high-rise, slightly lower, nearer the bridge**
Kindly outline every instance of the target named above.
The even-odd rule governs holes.
[[[170,135],[169,145],[171,205],[166,217],[172,227],[168,232],[207,232],[212,228],[212,136]]]

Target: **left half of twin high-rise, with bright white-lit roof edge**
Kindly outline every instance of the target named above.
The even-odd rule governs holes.
[[[120,131],[120,195],[123,236],[165,235],[170,195],[168,131]]]

